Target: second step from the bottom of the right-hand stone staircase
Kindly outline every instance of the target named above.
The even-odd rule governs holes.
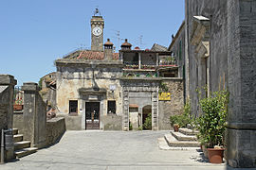
[[[199,147],[200,143],[196,141],[178,141],[172,134],[164,135],[164,138],[169,146],[172,147]]]

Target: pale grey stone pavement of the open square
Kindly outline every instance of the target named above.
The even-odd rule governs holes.
[[[196,149],[161,150],[157,138],[167,131],[66,131],[48,148],[0,165],[12,169],[226,169],[210,164]]]

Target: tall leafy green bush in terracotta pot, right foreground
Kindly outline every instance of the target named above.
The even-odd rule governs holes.
[[[215,92],[200,99],[202,115],[198,117],[198,138],[208,151],[211,163],[222,163],[224,153],[224,133],[226,129],[229,93]]]

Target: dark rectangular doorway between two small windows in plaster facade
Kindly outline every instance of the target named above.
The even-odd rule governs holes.
[[[85,129],[100,129],[100,102],[85,103]]]

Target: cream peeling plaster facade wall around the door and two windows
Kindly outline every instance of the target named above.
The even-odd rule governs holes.
[[[109,62],[110,64],[101,65],[104,64],[104,62]],[[85,102],[89,101],[89,94],[79,93],[81,88],[92,89],[93,87],[98,87],[106,91],[106,93],[101,93],[101,95],[99,95],[99,99],[101,98],[101,117],[107,115],[107,100],[116,100],[116,114],[122,115],[121,86],[119,83],[120,76],[120,65],[111,65],[111,61],[98,61],[95,63],[87,62],[87,65],[77,66],[57,66],[57,107],[58,110],[60,110],[60,116],[65,114],[66,128],[85,128]],[[116,86],[115,91],[110,90],[111,85]],[[97,91],[96,95],[98,95]],[[72,123],[78,123],[78,117],[68,115],[69,100],[78,100],[78,116],[80,116],[81,125],[74,125]],[[103,117],[100,118],[100,120],[103,121]],[[100,128],[103,128],[102,123]]]

